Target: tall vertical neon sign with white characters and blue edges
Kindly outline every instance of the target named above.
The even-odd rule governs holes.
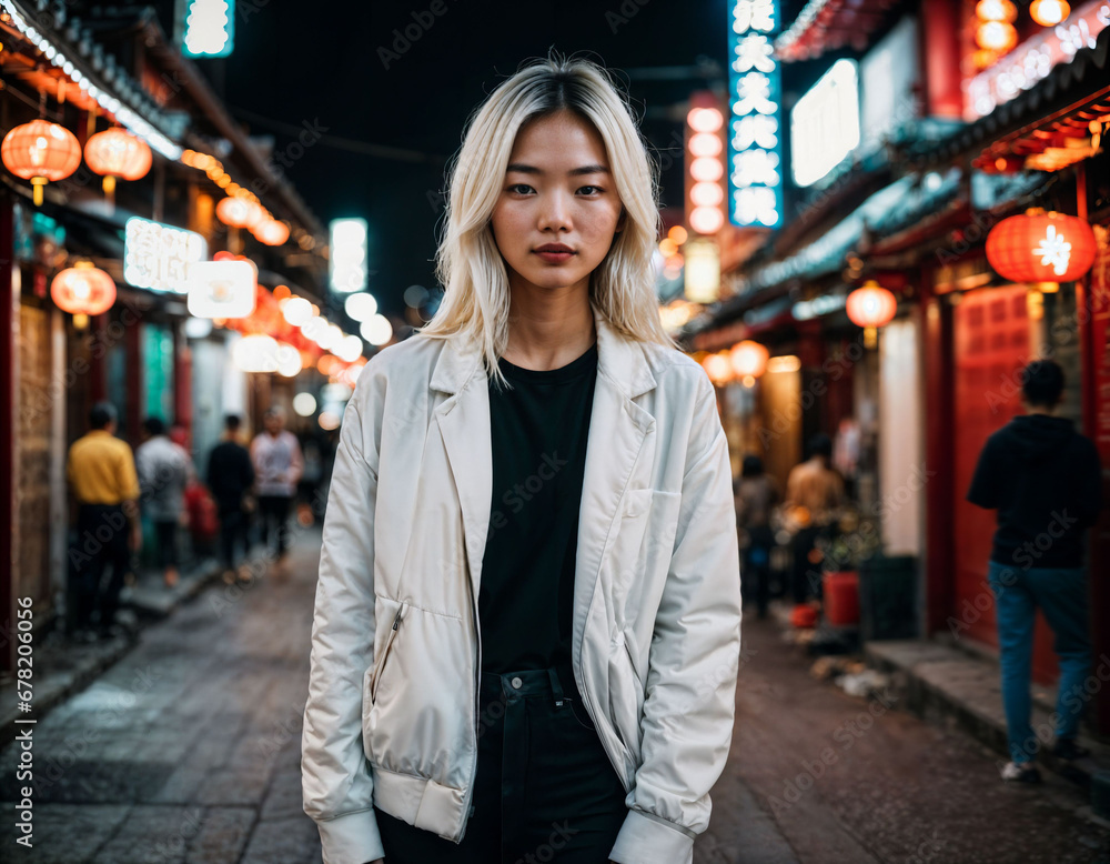
[[[741,228],[783,223],[778,0],[731,0],[728,21],[728,215]]]

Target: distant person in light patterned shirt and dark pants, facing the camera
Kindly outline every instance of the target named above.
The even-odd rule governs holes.
[[[285,411],[279,406],[265,413],[266,431],[251,442],[262,544],[270,547],[270,534],[278,535],[278,560],[285,556],[289,542],[285,526],[296,484],[304,471],[304,456],[296,435],[285,430]]]

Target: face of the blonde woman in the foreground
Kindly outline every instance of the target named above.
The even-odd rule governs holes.
[[[587,289],[623,227],[605,144],[571,112],[534,120],[516,135],[492,228],[514,289]],[[547,252],[547,247],[566,251]]]

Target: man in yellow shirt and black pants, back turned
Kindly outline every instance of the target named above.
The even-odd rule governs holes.
[[[65,475],[78,502],[77,542],[70,549],[74,577],[73,635],[88,641],[92,613],[99,609],[95,635],[117,635],[115,609],[131,551],[140,547],[139,479],[131,446],[115,438],[115,408],[98,402],[89,414],[90,431],[70,446]],[[104,566],[111,566],[101,590]]]

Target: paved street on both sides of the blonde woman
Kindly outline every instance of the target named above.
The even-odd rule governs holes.
[[[9,860],[320,861],[299,767],[319,545],[307,530],[285,565],[209,587],[36,726],[33,853]],[[1110,832],[1064,781],[1003,786],[995,754],[814,681],[776,625],[745,626],[696,864],[1107,861]],[[0,834],[11,848],[12,820]]]

